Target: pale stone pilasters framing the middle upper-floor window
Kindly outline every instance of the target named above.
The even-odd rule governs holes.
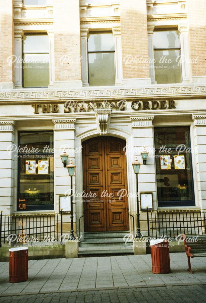
[[[100,30],[100,29],[98,29]],[[94,29],[92,28],[92,31]],[[114,62],[115,62],[115,85],[121,85],[122,81],[122,50],[121,50],[121,28],[112,27],[112,33],[114,35]],[[89,73],[88,73],[88,35],[89,28],[81,28],[81,56],[82,56],[82,84],[83,86],[89,86]]]

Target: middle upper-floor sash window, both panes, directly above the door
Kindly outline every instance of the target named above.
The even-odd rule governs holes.
[[[89,85],[114,85],[114,36],[92,33],[88,38]]]

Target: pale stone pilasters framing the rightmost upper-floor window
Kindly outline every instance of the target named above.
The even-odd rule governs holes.
[[[162,27],[162,30],[166,30],[167,27]],[[174,25],[171,25],[171,28],[173,28],[173,27],[174,27]],[[190,75],[190,63],[189,63],[188,25],[179,24],[177,26],[177,28],[178,28],[179,37],[180,37],[180,47],[181,47],[180,54],[185,59],[181,63],[182,83],[189,83],[189,82],[191,82],[191,75]],[[147,27],[149,57],[151,60],[154,59],[154,47],[153,47],[154,29],[155,29],[155,25],[148,25],[148,27]],[[155,81],[154,64],[150,64],[150,78],[152,80],[152,84],[157,84]]]

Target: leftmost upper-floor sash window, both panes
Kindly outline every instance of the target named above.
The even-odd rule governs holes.
[[[49,84],[49,38],[47,35],[24,35],[23,85],[47,87]]]

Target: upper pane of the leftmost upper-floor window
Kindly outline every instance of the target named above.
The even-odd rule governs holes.
[[[24,35],[24,53],[38,52],[49,52],[49,37],[47,35]]]

